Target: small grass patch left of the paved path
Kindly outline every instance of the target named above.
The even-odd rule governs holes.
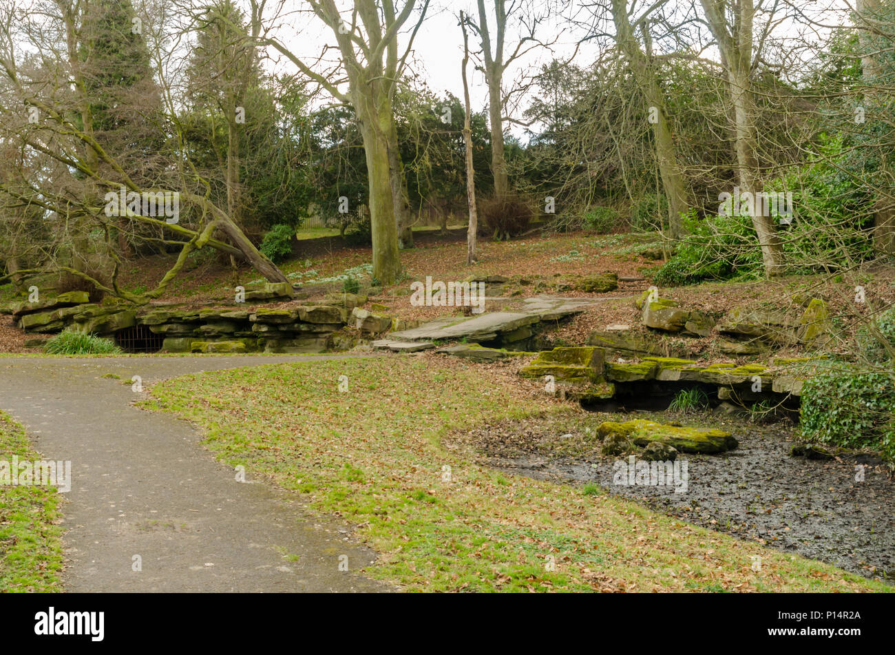
[[[0,460],[33,462],[40,457],[21,425],[0,412]],[[58,492],[53,488],[0,484],[0,592],[62,591],[62,530]]]

